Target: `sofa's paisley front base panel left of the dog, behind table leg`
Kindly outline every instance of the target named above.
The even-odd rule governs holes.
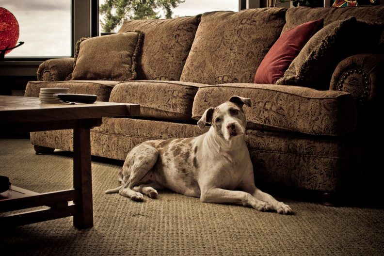
[[[197,125],[138,120],[103,118],[100,127],[91,129],[91,153],[95,156],[125,160],[129,150],[147,140],[195,137],[208,131]],[[31,142],[50,148],[73,151],[72,130],[31,132]]]

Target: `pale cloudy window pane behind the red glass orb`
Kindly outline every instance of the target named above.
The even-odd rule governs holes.
[[[71,56],[71,0],[1,0],[20,27],[18,41],[24,45],[5,55],[10,57]],[[12,59],[12,58],[10,58]]]

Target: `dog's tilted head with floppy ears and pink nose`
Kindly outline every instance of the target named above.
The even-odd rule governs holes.
[[[242,108],[244,104],[251,107],[251,99],[232,96],[220,106],[207,109],[197,125],[203,129],[209,123],[220,137],[229,141],[245,131],[247,120]]]

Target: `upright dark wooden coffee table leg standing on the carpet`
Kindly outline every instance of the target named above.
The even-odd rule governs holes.
[[[80,192],[75,201],[79,212],[73,216],[73,225],[78,228],[93,226],[91,137],[90,128],[80,121],[79,128],[73,129],[73,186]]]

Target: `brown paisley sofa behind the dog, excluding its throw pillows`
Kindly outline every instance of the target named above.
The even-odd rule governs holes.
[[[92,129],[92,154],[117,160],[146,140],[197,136],[207,130],[196,125],[205,109],[232,95],[250,97],[246,143],[256,185],[327,193],[374,188],[383,54],[368,49],[369,54],[342,60],[328,70],[332,77],[322,90],[253,83],[280,33],[321,17],[325,26],[350,16],[383,21],[384,6],[264,8],[125,21],[119,32],[144,32],[138,80],[70,80],[73,58],[52,59],[40,65],[38,81],[28,83],[25,96],[38,97],[42,87],[68,87],[101,101],[140,103],[140,117],[105,118]],[[70,130],[34,132],[31,141],[39,152],[72,150]]]

